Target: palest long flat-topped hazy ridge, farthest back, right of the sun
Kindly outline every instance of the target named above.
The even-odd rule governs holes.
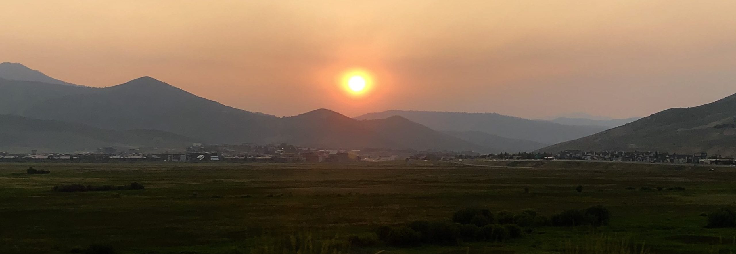
[[[434,130],[483,132],[503,138],[522,139],[542,144],[556,144],[607,129],[599,126],[575,126],[544,120],[522,119],[498,113],[389,110],[367,113],[355,119],[386,119],[390,116],[403,116]]]

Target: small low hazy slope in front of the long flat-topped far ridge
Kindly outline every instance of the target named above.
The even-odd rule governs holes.
[[[532,152],[536,149],[547,147],[549,144],[528,141],[523,139],[503,138],[499,135],[488,134],[478,131],[456,132],[445,130],[442,133],[469,141],[486,148],[492,153],[500,152]]]

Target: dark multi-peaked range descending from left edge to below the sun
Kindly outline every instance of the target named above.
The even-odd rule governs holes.
[[[1,80],[0,113],[106,130],[160,130],[213,144],[475,150],[485,147],[403,118],[358,121],[320,109],[277,117],[222,105],[152,77],[108,88]]]

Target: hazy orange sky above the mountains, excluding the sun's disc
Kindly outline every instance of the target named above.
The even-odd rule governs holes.
[[[151,76],[277,116],[326,107],[648,116],[736,94],[736,1],[0,1],[0,62]],[[353,97],[350,68],[375,84]]]

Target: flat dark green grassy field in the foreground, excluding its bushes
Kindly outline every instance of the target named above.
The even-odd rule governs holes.
[[[643,245],[645,253],[736,253],[736,228],[704,228],[707,217],[701,216],[736,206],[735,169],[565,161],[486,164],[504,167],[1,163],[0,253],[71,253],[91,244],[114,247],[117,253],[249,253],[278,248],[289,237],[330,241],[342,246],[342,253],[591,253],[581,246],[600,239]],[[29,166],[51,173],[26,174]],[[52,191],[68,183],[131,182],[146,188]],[[578,185],[584,188],[581,193]],[[666,190],[673,186],[684,191]],[[612,211],[610,225],[537,227],[521,239],[458,246],[343,244],[347,236],[372,234],[380,225],[449,220],[454,211],[471,206],[532,209],[550,216],[592,205]]]

